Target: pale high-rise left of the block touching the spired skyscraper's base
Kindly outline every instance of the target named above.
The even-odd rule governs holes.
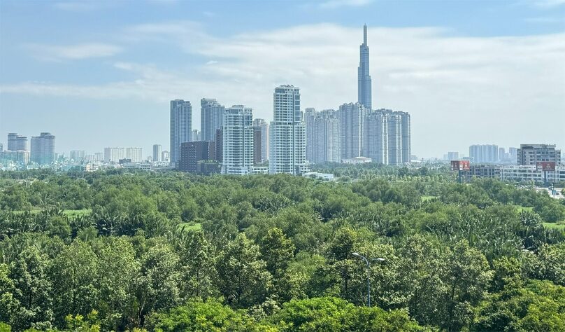
[[[337,112],[327,109],[313,119],[311,162],[341,162],[341,136]]]

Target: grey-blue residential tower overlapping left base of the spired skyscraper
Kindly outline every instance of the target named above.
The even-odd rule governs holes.
[[[352,159],[362,156],[363,123],[367,113],[369,113],[369,110],[358,102],[339,106],[341,159]]]

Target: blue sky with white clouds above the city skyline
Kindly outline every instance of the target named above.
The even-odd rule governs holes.
[[[169,101],[357,102],[369,26],[373,108],[411,116],[412,153],[471,144],[565,150],[565,0],[0,0],[0,143],[51,132],[56,151],[169,150]]]

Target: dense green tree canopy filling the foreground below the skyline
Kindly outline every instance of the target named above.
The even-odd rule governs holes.
[[[0,331],[565,330],[565,200],[323,167],[0,172]]]

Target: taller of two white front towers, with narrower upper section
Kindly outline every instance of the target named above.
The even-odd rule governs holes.
[[[300,110],[300,89],[280,85],[273,94],[269,173],[302,174],[306,168],[306,125]]]

